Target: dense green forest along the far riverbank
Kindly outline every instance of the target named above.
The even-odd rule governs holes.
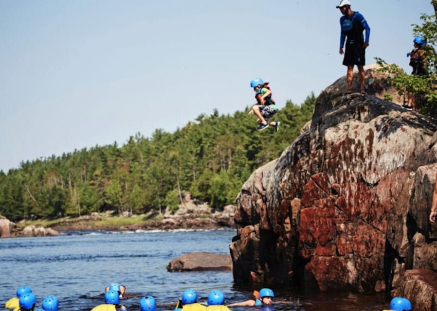
[[[182,191],[220,208],[233,204],[242,184],[277,158],[311,119],[315,96],[288,101],[273,129],[255,130],[249,108],[233,115],[201,114],[174,133],[157,129],[126,143],[83,148],[22,161],[0,171],[0,214],[13,220],[81,216],[113,210],[176,210]]]

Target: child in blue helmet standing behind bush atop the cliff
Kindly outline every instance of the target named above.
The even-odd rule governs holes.
[[[417,36],[414,38],[413,43],[413,51],[407,53],[407,57],[410,57],[409,65],[413,67],[413,72],[411,72],[411,74],[427,75],[428,72],[426,68],[426,59],[429,56],[429,52],[425,49],[426,40],[421,36]],[[419,98],[416,98],[416,94],[409,92],[408,104],[402,105],[402,107],[408,110],[417,110],[417,108],[419,108],[417,105],[417,101],[419,101]]]

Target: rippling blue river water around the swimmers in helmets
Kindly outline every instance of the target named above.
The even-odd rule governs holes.
[[[111,282],[127,288],[123,300],[129,310],[139,310],[144,295],[152,295],[158,310],[172,310],[170,303],[185,289],[193,288],[205,302],[215,289],[226,303],[247,300],[252,288],[235,285],[232,272],[167,272],[165,266],[190,252],[229,254],[235,230],[172,232],[65,232],[49,238],[0,240],[0,310],[19,286],[28,285],[37,297],[37,307],[48,295],[60,300],[60,310],[89,311],[104,303],[103,291]],[[364,311],[388,309],[382,294],[303,292],[272,287],[279,300],[276,311]],[[258,289],[259,290],[259,289]],[[232,308],[236,311],[257,308]]]

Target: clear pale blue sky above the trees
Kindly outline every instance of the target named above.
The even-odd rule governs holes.
[[[280,107],[346,73],[339,0],[0,0],[0,170],[21,160],[172,132],[201,113]],[[410,71],[430,0],[351,0],[379,56]]]

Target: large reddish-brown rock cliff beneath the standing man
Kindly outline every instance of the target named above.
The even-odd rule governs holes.
[[[236,282],[380,292],[437,270],[437,121],[383,101],[384,77],[366,76],[370,95],[343,96],[345,78],[323,91],[308,130],[243,185]]]

